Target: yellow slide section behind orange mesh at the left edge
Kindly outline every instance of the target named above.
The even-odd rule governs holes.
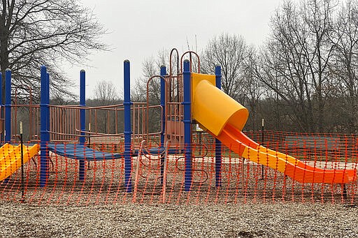
[[[35,156],[40,151],[40,145],[34,144],[29,147],[24,145],[23,149],[23,160],[27,163],[30,158]],[[11,144],[4,144],[0,147],[0,181],[6,179],[13,174],[18,168],[21,167],[21,145],[14,147]]]

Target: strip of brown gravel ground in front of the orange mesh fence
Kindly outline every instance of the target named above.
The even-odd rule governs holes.
[[[0,237],[357,237],[358,207],[344,204],[0,203]]]

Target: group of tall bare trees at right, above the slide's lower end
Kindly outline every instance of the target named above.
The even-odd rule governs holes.
[[[356,133],[357,34],[357,1],[283,3],[254,58],[262,96],[252,113],[278,130]]]

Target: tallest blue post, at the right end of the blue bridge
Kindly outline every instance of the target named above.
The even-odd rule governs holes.
[[[131,193],[131,75],[130,63],[124,61],[124,186]]]

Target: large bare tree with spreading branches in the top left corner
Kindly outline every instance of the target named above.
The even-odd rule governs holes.
[[[0,67],[13,72],[13,84],[31,85],[38,96],[39,66],[51,75],[51,90],[70,95],[60,62],[83,64],[91,50],[106,50],[105,34],[92,12],[73,0],[2,0]]]

